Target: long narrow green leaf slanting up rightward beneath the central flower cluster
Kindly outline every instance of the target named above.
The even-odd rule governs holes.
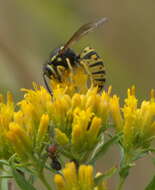
[[[107,152],[107,150],[110,148],[110,146],[116,143],[120,139],[121,136],[122,136],[122,132],[117,133],[110,140],[108,140],[106,143],[100,146],[98,151],[95,153],[95,155],[93,155],[93,157],[90,159],[88,163],[93,164],[96,160],[98,160],[101,156],[103,156]]]

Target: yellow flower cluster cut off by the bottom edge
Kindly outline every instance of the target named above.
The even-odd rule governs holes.
[[[92,166],[81,165],[77,171],[73,162],[67,163],[62,175],[55,175],[54,181],[58,190],[107,190],[103,182],[95,186]]]

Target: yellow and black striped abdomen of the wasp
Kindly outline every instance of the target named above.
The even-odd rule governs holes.
[[[86,47],[80,54],[80,63],[91,77],[93,85],[102,89],[106,80],[105,68],[103,60],[95,50],[90,47]]]

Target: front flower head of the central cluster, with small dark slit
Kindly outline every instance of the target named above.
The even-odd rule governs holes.
[[[63,119],[61,115],[60,119]],[[64,124],[62,120],[59,122],[61,124],[58,121],[55,124],[57,127],[55,140],[63,146],[69,145],[76,159],[79,159],[83,153],[90,152],[97,145],[101,135],[102,119],[95,116],[90,108],[81,110],[77,107],[73,112],[66,113]]]

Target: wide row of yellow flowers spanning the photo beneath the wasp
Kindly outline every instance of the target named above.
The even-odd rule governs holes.
[[[17,111],[10,93],[6,103],[0,96],[1,158],[9,158],[14,152],[28,158],[34,152],[40,153],[54,136],[72,158],[81,161],[100,141],[111,116],[117,131],[123,132],[121,143],[126,149],[144,148],[155,136],[153,90],[151,99],[138,107],[135,88],[128,89],[121,108],[119,98],[110,97],[111,87],[102,93],[96,87],[78,92],[80,87],[75,88],[74,83],[52,83],[53,96],[36,84],[34,90],[22,89],[25,95],[16,105]]]

